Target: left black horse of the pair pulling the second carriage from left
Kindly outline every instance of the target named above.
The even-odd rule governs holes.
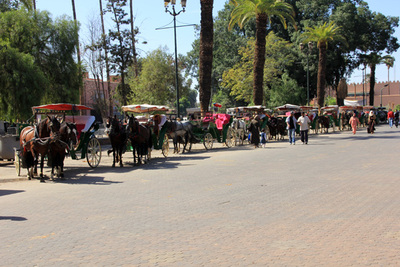
[[[107,119],[107,128],[109,128],[108,138],[111,142],[112,150],[108,151],[108,154],[113,153],[113,165],[115,167],[115,162],[119,162],[119,166],[123,167],[122,163],[122,154],[126,150],[126,140],[127,134],[125,128],[122,125],[122,122],[117,119],[116,116],[113,118],[109,117]]]

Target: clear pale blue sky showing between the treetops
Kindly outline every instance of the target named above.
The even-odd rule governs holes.
[[[47,10],[53,17],[66,14],[72,17],[72,4],[68,0],[36,0],[37,8]],[[128,1],[129,2],[129,1]],[[177,11],[180,10],[180,0],[177,0]],[[214,16],[223,9],[225,0],[214,0]],[[380,12],[386,16],[400,16],[399,0],[367,0],[372,11]],[[85,40],[86,25],[90,18],[99,14],[98,0],[75,0],[77,19],[81,23],[81,39]],[[105,1],[103,0],[103,8]],[[166,25],[173,26],[172,16],[165,13],[162,0],[134,0],[135,24],[140,29],[138,36],[139,53],[152,51],[161,46],[168,47],[171,53],[174,52],[173,29],[155,30],[158,27]],[[187,0],[185,13],[177,16],[177,24],[200,24],[200,0]],[[106,25],[111,23],[106,21]],[[395,36],[400,42],[400,29],[396,29]],[[196,39],[193,27],[184,27],[177,29],[178,53],[186,54],[192,48],[192,42]],[[147,44],[143,44],[143,42]],[[399,80],[400,72],[400,50],[393,54],[395,57],[395,66],[390,69],[390,80]],[[329,62],[328,62],[329,64]],[[367,69],[367,74],[369,69]],[[385,65],[377,67],[377,81],[386,81],[388,76]],[[361,71],[355,71],[349,82],[361,82]]]

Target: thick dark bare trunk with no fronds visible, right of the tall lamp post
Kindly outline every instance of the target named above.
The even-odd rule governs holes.
[[[201,4],[201,30],[200,30],[200,109],[202,115],[208,111],[211,98],[211,74],[213,61],[213,0],[200,0]]]

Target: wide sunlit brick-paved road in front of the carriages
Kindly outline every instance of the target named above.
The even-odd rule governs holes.
[[[0,265],[400,265],[400,129],[194,148],[1,183]]]

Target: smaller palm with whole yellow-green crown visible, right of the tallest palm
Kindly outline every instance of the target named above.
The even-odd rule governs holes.
[[[346,39],[339,34],[339,29],[334,22],[324,23],[322,26],[306,27],[303,33],[304,42],[316,42],[319,49],[318,77],[317,77],[317,102],[318,106],[324,105],[325,99],[325,76],[326,76],[326,53],[328,42],[341,41]]]

